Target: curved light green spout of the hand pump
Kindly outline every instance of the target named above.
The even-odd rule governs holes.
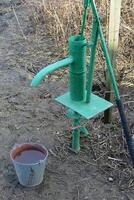
[[[68,58],[65,58],[63,60],[60,60],[56,63],[53,63],[51,65],[48,65],[44,69],[42,69],[32,80],[31,86],[37,87],[41,84],[43,79],[45,78],[46,75],[51,74],[52,72],[62,68],[66,67],[67,65],[70,65],[73,63],[73,57],[69,56]]]

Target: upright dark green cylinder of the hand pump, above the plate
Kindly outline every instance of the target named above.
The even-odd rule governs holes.
[[[70,97],[73,101],[84,101],[86,95],[86,49],[87,42],[80,35],[69,38],[69,51],[73,57],[70,65]]]

